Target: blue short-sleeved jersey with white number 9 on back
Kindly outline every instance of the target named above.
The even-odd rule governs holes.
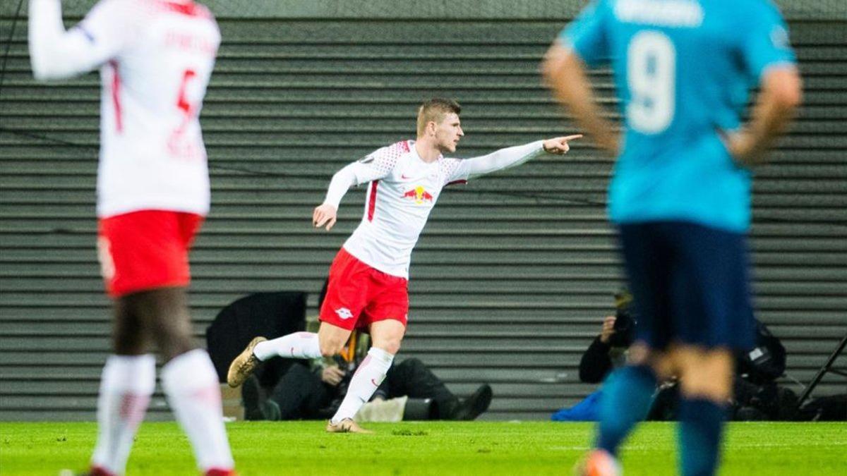
[[[739,127],[768,68],[794,64],[778,9],[767,0],[597,0],[562,42],[586,64],[612,64],[625,124],[612,221],[745,231],[750,174],[718,131]]]

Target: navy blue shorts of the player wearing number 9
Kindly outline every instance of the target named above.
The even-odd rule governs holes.
[[[745,235],[682,221],[623,224],[619,231],[636,340],[658,350],[674,343],[752,347]]]

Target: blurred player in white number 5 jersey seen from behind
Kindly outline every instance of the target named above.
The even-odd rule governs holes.
[[[97,401],[91,474],[125,471],[156,384],[188,434],[197,466],[229,475],[217,374],[191,342],[188,250],[209,208],[202,97],[220,43],[208,9],[191,0],[102,0],[65,31],[59,0],[30,0],[38,80],[91,69],[102,77],[97,246],[114,299],[114,355]]]

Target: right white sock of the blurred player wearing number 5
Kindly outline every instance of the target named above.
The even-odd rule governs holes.
[[[162,387],[182,429],[188,434],[197,467],[231,469],[230,442],[224,429],[220,384],[212,360],[202,349],[174,357],[162,368]]]

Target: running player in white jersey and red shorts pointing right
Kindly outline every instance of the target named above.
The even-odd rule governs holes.
[[[372,346],[350,382],[344,401],[327,423],[329,432],[356,432],[352,418],[385,379],[406,332],[408,269],[412,248],[446,185],[507,169],[545,153],[564,154],[564,136],[508,147],[477,158],[445,158],[464,136],[461,108],[447,99],[431,99],[418,108],[418,138],[400,141],[340,169],[329,183],[324,203],[314,209],[313,224],[330,230],[341,198],[352,185],[368,183],[364,216],[329,268],[329,287],[320,309],[317,334],[298,332],[279,339],[252,340],[230,366],[230,385],[271,357],[333,356],[352,329],[368,329]]]

